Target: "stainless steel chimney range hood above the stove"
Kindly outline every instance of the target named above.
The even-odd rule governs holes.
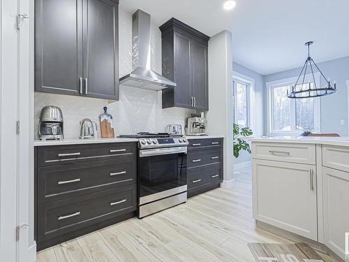
[[[159,91],[177,84],[150,68],[150,15],[137,10],[132,16],[132,68],[120,78],[120,85]]]

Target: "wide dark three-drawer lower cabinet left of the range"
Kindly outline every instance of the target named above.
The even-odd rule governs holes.
[[[110,148],[122,151],[114,153]],[[103,149],[105,153],[101,155]],[[59,156],[67,152],[80,154],[59,161]],[[36,147],[37,249],[135,216],[136,152],[137,143]],[[88,162],[83,161],[86,154]],[[47,161],[56,164],[47,166]]]

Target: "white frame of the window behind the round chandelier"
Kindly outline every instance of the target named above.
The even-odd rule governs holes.
[[[303,133],[302,130],[295,130],[296,124],[296,99],[291,99],[291,130],[290,131],[275,131],[274,130],[274,99],[272,90],[276,87],[292,86],[295,85],[298,77],[295,78],[285,78],[281,80],[275,80],[271,82],[266,82],[267,86],[267,136],[299,136]],[[317,87],[320,87],[320,73],[314,73],[315,84]],[[304,78],[304,82],[313,82],[313,75],[307,74]],[[285,94],[286,95],[286,94]],[[321,99],[315,98],[315,129],[317,133],[321,132]],[[292,129],[293,126],[293,129]]]

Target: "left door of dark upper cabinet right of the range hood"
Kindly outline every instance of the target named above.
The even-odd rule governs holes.
[[[191,54],[190,39],[181,34],[174,33],[174,103],[182,108],[191,108]]]

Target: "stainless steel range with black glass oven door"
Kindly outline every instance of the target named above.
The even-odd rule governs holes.
[[[121,135],[138,138],[138,217],[186,202],[188,140],[168,133]]]

